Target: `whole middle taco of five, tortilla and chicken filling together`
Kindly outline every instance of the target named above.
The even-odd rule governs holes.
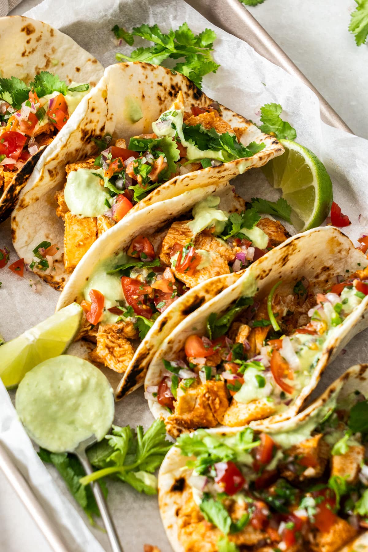
[[[97,343],[92,360],[119,374],[128,370],[126,392],[143,383],[159,342],[185,315],[287,236],[280,222],[246,209],[230,184],[193,189],[105,232],[74,270],[57,309],[74,300],[82,305],[79,337]],[[219,274],[224,279],[217,284]],[[196,290],[188,291],[198,284],[199,300]]]

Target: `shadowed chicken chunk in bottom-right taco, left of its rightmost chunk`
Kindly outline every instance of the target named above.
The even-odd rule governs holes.
[[[280,475],[289,481],[303,481],[311,477],[320,477],[326,468],[330,447],[323,434],[306,439],[287,449],[285,463],[280,464]],[[291,471],[287,464],[296,463],[300,470]]]

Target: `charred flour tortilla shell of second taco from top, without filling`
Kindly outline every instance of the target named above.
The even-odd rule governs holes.
[[[66,181],[65,166],[68,162],[86,157],[95,146],[92,136],[106,132],[114,138],[125,138],[151,132],[151,124],[173,103],[179,91],[183,92],[185,109],[191,105],[209,105],[213,100],[183,75],[149,63],[116,63],[106,68],[98,86],[84,98],[75,113],[73,129],[60,133],[36,165],[33,175],[23,189],[17,208],[12,215],[12,236],[15,251],[25,263],[31,262],[32,250],[42,241],[56,243],[63,250],[64,223],[56,215],[54,194]],[[89,98],[89,99],[87,99]],[[177,176],[137,203],[131,212],[136,212],[157,201],[175,197],[186,190],[208,184],[220,184],[234,178],[252,167],[261,167],[284,148],[272,136],[263,134],[243,116],[221,105],[223,119],[233,128],[247,130],[242,135],[242,144],[264,142],[264,150],[253,157],[208,167],[183,176]],[[142,116],[136,120],[141,112]],[[64,130],[64,129],[63,129]],[[68,274],[59,264],[52,275],[39,273],[47,283],[61,289]]]

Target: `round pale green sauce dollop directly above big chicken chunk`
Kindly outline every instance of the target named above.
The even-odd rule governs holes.
[[[111,204],[111,196],[106,188],[100,184],[103,170],[78,169],[71,171],[66,179],[64,188],[65,202],[73,215],[98,216],[108,210],[107,200]]]

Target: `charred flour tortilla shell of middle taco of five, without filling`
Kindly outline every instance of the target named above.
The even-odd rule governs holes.
[[[84,299],[82,295],[83,288],[98,263],[127,250],[131,241],[137,235],[142,234],[150,237],[152,233],[166,225],[171,219],[190,211],[195,203],[212,194],[216,194],[221,198],[220,209],[232,211],[237,205],[232,187],[230,184],[222,182],[221,184],[211,184],[206,188],[196,188],[184,192],[176,198],[159,201],[146,209],[141,209],[137,213],[124,217],[120,224],[111,228],[109,232],[105,232],[94,242],[93,246],[84,255],[63,289],[56,310],[62,309],[62,307],[73,301],[81,302]],[[116,398],[121,399],[127,392],[133,391],[143,383],[148,364],[150,364],[154,353],[179,322],[206,301],[236,282],[242,273],[243,271],[225,274],[221,280],[211,278],[187,291],[182,298],[174,301],[154,322],[151,330],[137,348],[130,367],[123,378],[122,374],[104,368],[104,373],[114,388]]]

